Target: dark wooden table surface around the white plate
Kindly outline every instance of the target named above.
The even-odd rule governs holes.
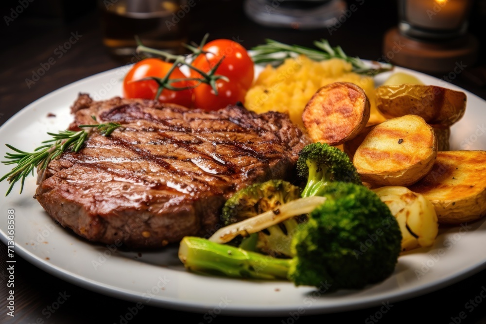
[[[362,3],[362,1],[358,1]],[[370,1],[371,2],[371,1]],[[365,2],[342,26],[330,33],[326,29],[301,31],[262,27],[249,20],[242,12],[241,1],[201,1],[193,8],[189,24],[189,39],[199,41],[205,33],[210,38],[239,37],[246,48],[261,44],[265,38],[273,38],[286,43],[311,46],[312,41],[327,38],[331,45],[341,45],[352,56],[376,60],[382,56],[382,36],[396,25],[396,5]],[[481,41],[481,59],[477,65],[468,67],[452,83],[486,99],[484,66],[484,37],[481,23],[484,13],[478,10],[471,18],[470,30]],[[10,1],[10,7],[17,2]],[[34,6],[34,4],[33,4]],[[2,16],[10,12],[9,5],[2,5]],[[484,9],[483,9],[484,10]],[[3,46],[0,50],[0,125],[17,111],[51,91],[80,80],[92,74],[116,68],[123,63],[111,57],[102,43],[99,15],[96,10],[87,10],[79,17],[60,23],[28,13],[19,15],[9,26],[2,26]],[[2,21],[3,23],[3,21]],[[40,82],[30,87],[25,79],[32,77],[32,71],[52,56],[59,44],[63,44],[71,33],[82,35],[54,65],[46,71]],[[436,75],[441,77],[441,75]],[[486,116],[486,107],[485,107]],[[2,138],[6,142],[5,138]],[[485,247],[477,247],[484,249]],[[7,247],[0,245],[0,323],[123,323],[122,316],[133,302],[105,296],[76,285],[67,283],[51,274],[39,270],[34,265],[15,256],[15,317],[7,315]],[[471,252],[472,253],[472,252]],[[301,316],[298,320],[289,316],[269,317],[266,323],[486,323],[486,299],[469,313],[465,304],[477,297],[486,285],[486,270],[469,273],[469,276],[452,283],[446,288],[393,303],[386,313],[381,307],[336,312],[323,315]],[[66,293],[66,302],[55,312],[46,311]],[[386,303],[386,301],[383,301]],[[461,312],[467,317],[460,319]],[[173,318],[187,323],[227,323],[236,321],[234,317],[219,315],[206,316],[199,313],[177,311],[153,307],[150,304],[139,310],[128,323],[170,323]],[[255,321],[257,318],[246,318]]]

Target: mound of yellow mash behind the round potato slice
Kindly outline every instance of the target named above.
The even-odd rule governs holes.
[[[248,90],[245,106],[256,113],[279,111],[305,129],[302,112],[317,90],[333,82],[351,82],[363,88],[371,105],[368,124],[385,120],[375,103],[375,83],[372,77],[351,71],[352,65],[333,58],[316,62],[306,56],[289,58],[277,68],[268,65]]]

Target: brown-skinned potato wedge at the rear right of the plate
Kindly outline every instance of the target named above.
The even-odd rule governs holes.
[[[464,92],[435,85],[382,85],[375,89],[376,105],[385,118],[418,115],[434,125],[451,126],[464,116]]]

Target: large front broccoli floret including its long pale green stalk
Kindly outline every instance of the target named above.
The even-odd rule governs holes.
[[[373,191],[353,183],[331,183],[323,196],[325,202],[314,207],[307,222],[295,231],[293,258],[186,237],[180,243],[179,259],[198,273],[287,279],[296,286],[325,286],[326,291],[362,289],[390,276],[402,237],[387,205]]]

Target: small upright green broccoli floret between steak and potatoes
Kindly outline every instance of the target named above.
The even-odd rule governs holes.
[[[325,187],[334,181],[362,184],[349,156],[326,143],[308,144],[300,151],[297,174],[307,181],[302,197],[321,196]]]

